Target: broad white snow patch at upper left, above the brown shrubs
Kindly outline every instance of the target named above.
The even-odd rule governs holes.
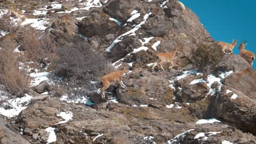
[[[42,19],[26,19],[25,21],[23,21],[21,23],[22,25],[29,25],[30,27],[33,27],[35,29],[39,29],[39,30],[45,30],[47,27],[45,27],[45,25],[48,23],[47,21],[48,19],[42,18]]]

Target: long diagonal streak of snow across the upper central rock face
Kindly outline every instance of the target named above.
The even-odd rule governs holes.
[[[147,21],[149,15],[151,15],[151,12],[148,12],[147,14],[145,14],[144,17],[143,17],[143,21],[140,22],[140,23],[139,23],[137,26],[135,26],[133,29],[131,29],[131,30],[127,31],[126,33],[124,33],[124,34],[118,36],[118,37],[111,43],[111,45],[107,48],[106,51],[107,51],[107,52],[110,52],[111,49],[115,46],[116,43],[119,43],[119,42],[122,41],[123,36],[130,35],[130,34],[135,34],[135,31],[137,31],[137,30],[141,27],[141,25],[143,25],[143,24],[146,23],[146,21]]]

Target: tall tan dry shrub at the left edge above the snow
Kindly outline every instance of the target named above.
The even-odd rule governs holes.
[[[14,46],[2,45],[0,52],[0,82],[10,94],[22,97],[29,87],[29,76],[25,69],[19,70],[17,54],[13,52]]]

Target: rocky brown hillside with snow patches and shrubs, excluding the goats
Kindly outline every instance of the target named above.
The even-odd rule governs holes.
[[[179,1],[0,0],[0,32],[0,143],[256,143],[256,71]]]

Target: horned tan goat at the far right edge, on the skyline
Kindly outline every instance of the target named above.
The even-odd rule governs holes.
[[[253,65],[253,61],[255,60],[255,54],[251,51],[247,51],[244,49],[247,41],[243,41],[238,49],[239,49],[239,55],[244,58],[247,62],[250,63],[250,65]]]

